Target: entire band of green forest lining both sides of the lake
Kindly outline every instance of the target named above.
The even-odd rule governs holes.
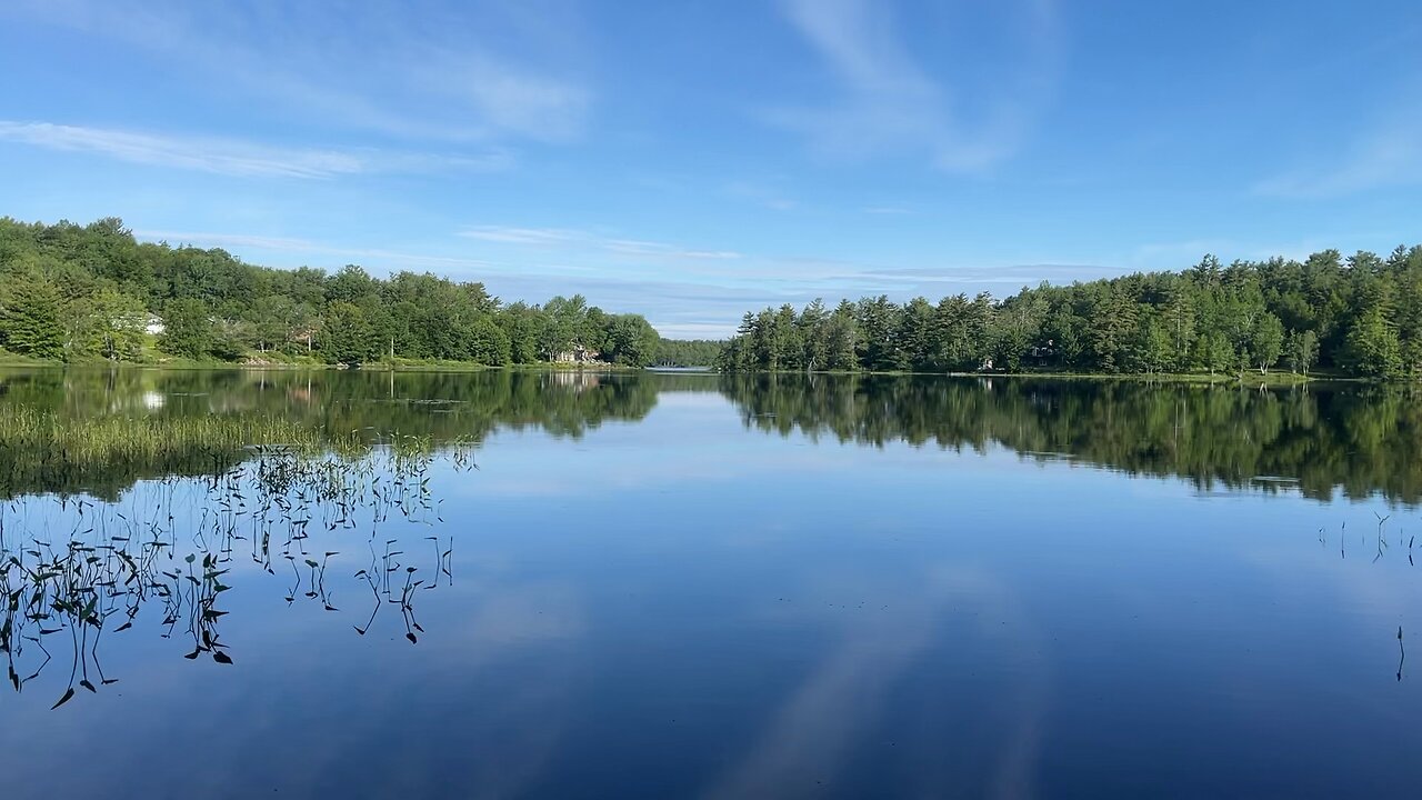
[[[139,243],[119,219],[0,218],[0,350],[41,360],[488,366],[592,362],[748,370],[1298,373],[1422,377],[1422,246],[1388,258],[1213,256],[1180,272],[1041,285],[997,300],[886,296],[748,313],[728,342],[661,340],[579,295],[505,303],[483,285],[361,268],[270,269]]]

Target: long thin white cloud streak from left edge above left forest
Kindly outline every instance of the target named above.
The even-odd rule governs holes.
[[[232,138],[4,120],[0,120],[0,141],[46,149],[92,152],[132,164],[237,177],[336,178],[361,172],[489,171],[509,165],[509,157],[496,151],[468,157],[378,149],[282,148]]]

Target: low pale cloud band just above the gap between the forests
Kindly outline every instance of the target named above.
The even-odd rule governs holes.
[[[1044,279],[1062,283],[1123,272],[1089,265],[904,266],[813,256],[776,258],[693,251],[569,228],[471,228],[459,239],[512,245],[513,249],[491,253],[466,246],[469,255],[456,246],[432,252],[347,248],[269,233],[139,228],[135,235],[151,242],[223,248],[255,263],[310,263],[333,269],[353,262],[375,273],[431,270],[481,280],[509,302],[539,302],[576,292],[613,312],[644,313],[663,335],[678,337],[727,336],[747,310],[784,303],[799,307],[815,298],[833,305],[842,298],[882,293],[899,302],[919,295],[937,300],[943,295],[980,290],[1003,296]],[[647,258],[646,265],[624,262],[616,258],[619,248],[656,258]],[[668,253],[687,259],[683,269],[663,269]],[[653,269],[647,269],[648,265]],[[704,269],[695,269],[697,265]]]

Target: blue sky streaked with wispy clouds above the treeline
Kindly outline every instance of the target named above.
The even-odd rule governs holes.
[[[6,0],[0,214],[671,336],[1422,241],[1422,4]]]

